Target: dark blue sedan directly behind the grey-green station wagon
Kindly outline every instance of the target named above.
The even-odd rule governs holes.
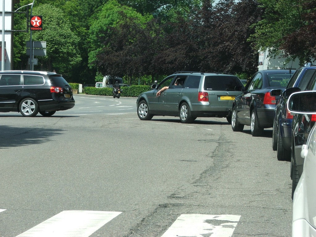
[[[242,131],[244,125],[250,125],[252,136],[260,136],[264,128],[272,127],[279,97],[271,96],[270,91],[284,89],[290,77],[289,70],[261,70],[255,73],[244,91],[234,100],[233,131]]]

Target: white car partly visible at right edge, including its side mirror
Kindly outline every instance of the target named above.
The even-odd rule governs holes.
[[[316,91],[293,93],[289,97],[290,113],[315,114]],[[316,124],[302,146],[303,173],[293,197],[292,237],[316,236]]]

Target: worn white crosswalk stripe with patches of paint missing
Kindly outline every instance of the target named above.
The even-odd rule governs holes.
[[[237,215],[182,214],[161,237],[229,237],[239,219]]]

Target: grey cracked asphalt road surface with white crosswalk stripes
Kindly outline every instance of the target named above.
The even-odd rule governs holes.
[[[49,118],[0,113],[1,237],[291,236],[290,163],[272,129],[75,100]]]

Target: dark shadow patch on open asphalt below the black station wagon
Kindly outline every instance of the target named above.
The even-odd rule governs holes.
[[[50,141],[51,137],[62,134],[60,129],[45,128],[17,128],[0,126],[0,149],[40,144]]]

